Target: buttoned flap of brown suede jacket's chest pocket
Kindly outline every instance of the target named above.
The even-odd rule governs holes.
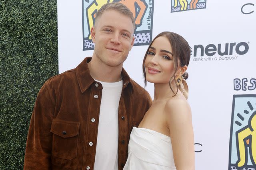
[[[79,127],[79,122],[53,119],[50,132],[63,138],[74,137],[78,135]]]

